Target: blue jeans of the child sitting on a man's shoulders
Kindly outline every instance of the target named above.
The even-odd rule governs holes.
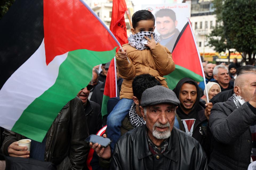
[[[107,137],[113,140],[110,143],[112,152],[114,151],[115,143],[121,137],[120,127],[125,116],[129,113],[132,103],[132,99],[121,99],[107,117]],[[176,116],[174,126],[179,129],[179,122]]]

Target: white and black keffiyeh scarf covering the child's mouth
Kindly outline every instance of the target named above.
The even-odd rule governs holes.
[[[158,35],[154,32],[150,32],[150,31],[143,31],[143,32],[138,32],[137,34],[131,34],[130,37],[128,37],[128,41],[129,44],[136,48],[137,50],[144,50],[147,48],[147,46],[145,46],[145,44],[147,44],[147,40],[144,38],[144,36],[149,37],[149,39],[151,40],[151,34],[153,34],[153,37],[155,39],[155,43],[159,43],[160,42],[160,38],[158,37]]]

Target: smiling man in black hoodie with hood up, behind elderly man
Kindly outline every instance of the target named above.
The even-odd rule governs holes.
[[[197,82],[190,78],[183,78],[173,91],[180,101],[177,114],[181,118],[186,133],[197,139],[206,153],[209,153],[210,147],[206,141],[208,122],[204,114],[205,105],[199,101]]]

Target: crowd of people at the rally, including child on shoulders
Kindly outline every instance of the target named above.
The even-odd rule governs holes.
[[[129,44],[116,54],[118,97],[108,114],[101,106],[110,63],[93,68],[91,82],[30,150],[18,146],[27,137],[1,128],[0,169],[256,169],[256,67],[203,62],[206,86],[185,77],[171,90],[163,76],[175,63],[153,14],[137,11],[132,23]],[[112,142],[86,143],[91,134]]]

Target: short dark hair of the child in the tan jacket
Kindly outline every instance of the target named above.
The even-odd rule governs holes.
[[[154,21],[154,25],[155,25],[155,17],[154,15],[148,11],[148,10],[139,10],[137,12],[135,12],[131,18],[132,22],[133,22],[133,28],[135,29],[137,27],[137,23],[140,20],[153,20]]]

